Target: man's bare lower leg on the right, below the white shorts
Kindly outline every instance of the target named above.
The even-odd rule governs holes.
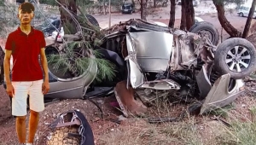
[[[29,118],[29,135],[28,135],[28,143],[34,142],[34,137],[38,129],[39,122],[39,113],[30,110],[30,118]]]

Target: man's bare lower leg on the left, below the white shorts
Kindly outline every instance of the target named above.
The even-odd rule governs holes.
[[[16,131],[20,143],[26,143],[26,116],[16,117]]]

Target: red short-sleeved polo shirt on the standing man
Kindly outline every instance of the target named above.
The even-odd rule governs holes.
[[[20,30],[20,26],[14,32],[9,33],[5,49],[12,50],[12,81],[43,79],[43,71],[38,56],[40,49],[44,48],[45,45],[44,33],[33,29],[33,27],[31,27],[31,32],[28,35]]]

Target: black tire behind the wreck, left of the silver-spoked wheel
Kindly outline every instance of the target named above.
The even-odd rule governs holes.
[[[210,35],[209,38],[212,44],[214,45],[218,44],[218,41],[219,41],[218,30],[211,23],[207,21],[197,22],[195,23],[195,25],[191,26],[191,28],[189,29],[189,32],[194,32],[199,35],[201,35],[202,31],[207,32]]]

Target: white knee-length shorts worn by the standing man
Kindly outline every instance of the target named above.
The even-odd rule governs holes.
[[[42,91],[43,79],[27,82],[12,82],[15,95],[12,98],[12,114],[14,116],[26,115],[26,100],[29,95],[29,108],[35,112],[44,110],[44,94]]]

